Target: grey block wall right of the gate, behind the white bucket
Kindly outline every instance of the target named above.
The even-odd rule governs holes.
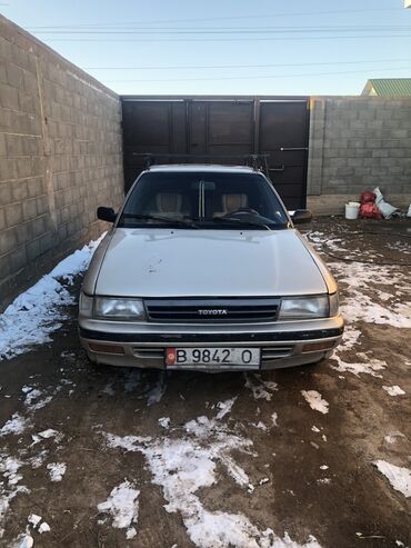
[[[411,98],[313,97],[310,100],[308,206],[338,213],[362,190],[411,202]]]

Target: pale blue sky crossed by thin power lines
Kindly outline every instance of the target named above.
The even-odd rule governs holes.
[[[403,0],[0,0],[121,94],[359,94],[411,78]]]

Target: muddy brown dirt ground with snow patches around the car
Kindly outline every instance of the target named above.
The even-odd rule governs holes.
[[[318,366],[93,367],[76,306],[52,343],[0,361],[0,546],[411,546],[411,219],[304,232],[347,318]],[[408,497],[377,461],[409,470]]]

